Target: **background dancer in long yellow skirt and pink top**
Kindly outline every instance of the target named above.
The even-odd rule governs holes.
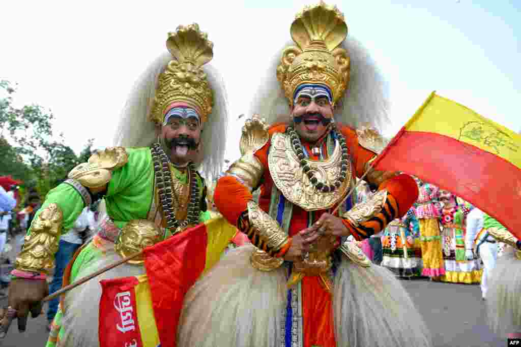
[[[416,179],[419,186],[419,196],[416,202],[416,218],[420,227],[421,260],[423,276],[437,279],[445,274],[443,254],[441,252],[441,236],[437,206],[440,189],[429,183]]]

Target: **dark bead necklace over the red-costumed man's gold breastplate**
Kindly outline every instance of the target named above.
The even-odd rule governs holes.
[[[349,167],[348,146],[345,143],[345,137],[337,131],[337,128],[336,126],[334,126],[334,124],[332,124],[331,131],[334,133],[340,144],[342,152],[342,161],[340,162],[340,175],[333,184],[328,185],[323,182],[318,182],[318,178],[315,177],[315,174],[313,173],[313,171],[311,171],[311,166],[309,166],[309,159],[307,159],[304,155],[304,150],[302,149],[302,143],[300,142],[299,135],[296,133],[293,126],[288,126],[287,128],[287,133],[290,136],[291,144],[293,145],[293,150],[296,156],[299,158],[299,163],[302,170],[306,173],[307,177],[309,178],[309,181],[311,181],[311,184],[313,184],[315,189],[317,191],[322,192],[334,191],[340,188],[340,186],[342,186],[342,183],[344,183],[345,178],[347,177]]]

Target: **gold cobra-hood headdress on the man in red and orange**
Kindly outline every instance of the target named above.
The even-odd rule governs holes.
[[[349,82],[349,56],[338,46],[348,35],[344,15],[336,6],[306,6],[291,24],[291,38],[297,44],[282,51],[277,79],[293,105],[295,89],[303,83],[324,84],[331,89],[333,104]]]

